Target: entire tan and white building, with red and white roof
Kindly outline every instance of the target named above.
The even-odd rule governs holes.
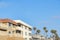
[[[31,26],[23,21],[0,19],[0,35],[10,37],[21,37],[24,40],[31,40]]]

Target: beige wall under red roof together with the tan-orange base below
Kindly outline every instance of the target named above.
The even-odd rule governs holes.
[[[13,24],[9,26],[9,23],[0,23],[0,29],[7,30],[7,31],[0,30],[0,40],[24,40],[24,38],[20,34],[16,33],[16,27],[17,26],[13,26]],[[11,33],[9,33],[9,31]]]

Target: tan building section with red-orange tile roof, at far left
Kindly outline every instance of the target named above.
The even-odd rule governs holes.
[[[10,19],[0,19],[0,35],[15,35],[16,22]],[[16,34],[17,35],[17,34]]]

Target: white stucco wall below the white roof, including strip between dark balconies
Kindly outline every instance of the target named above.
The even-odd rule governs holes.
[[[24,39],[27,38],[27,40],[29,40],[29,38],[31,38],[31,35],[29,35],[29,33],[31,33],[31,31],[29,30],[29,27],[26,27],[25,25],[21,25],[21,27],[16,27],[17,29],[21,30],[21,35],[23,36]]]

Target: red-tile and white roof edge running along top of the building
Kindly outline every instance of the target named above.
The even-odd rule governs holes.
[[[5,18],[5,19],[0,19],[0,22],[11,22],[12,24],[15,24],[15,25],[17,25],[17,23],[21,23],[29,28],[32,28],[32,26],[30,26],[29,24],[27,24],[21,20],[11,20],[11,19]]]

